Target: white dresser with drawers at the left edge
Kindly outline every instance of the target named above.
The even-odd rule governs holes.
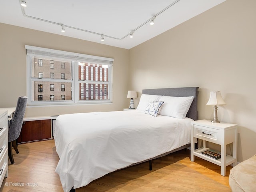
[[[0,110],[0,184],[8,176],[8,115]]]

